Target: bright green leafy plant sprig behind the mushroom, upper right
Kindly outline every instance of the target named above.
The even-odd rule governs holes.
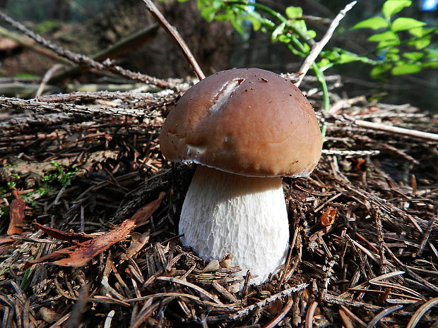
[[[333,66],[360,61],[372,66],[372,78],[438,68],[438,50],[431,47],[432,35],[438,29],[427,28],[426,23],[413,18],[395,17],[411,4],[410,0],[386,0],[381,8],[383,17],[368,18],[353,26],[353,30],[371,28],[379,31],[369,37],[368,40],[377,42],[377,45],[367,54],[359,55],[336,47],[321,51],[319,61],[311,68],[321,83],[324,109],[329,108],[324,71]],[[290,6],[284,13],[278,13],[268,6],[247,0],[198,0],[197,6],[208,22],[230,21],[239,33],[244,33],[248,27],[261,30],[271,35],[272,42],[284,43],[292,54],[301,58],[309,55],[315,42],[316,32],[307,28],[300,7]]]

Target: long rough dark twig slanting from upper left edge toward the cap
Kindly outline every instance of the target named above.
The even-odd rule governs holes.
[[[46,40],[41,35],[32,32],[31,30],[26,28],[25,25],[18,23],[16,20],[13,20],[11,17],[7,16],[5,13],[1,11],[0,11],[0,19],[4,20],[6,23],[10,24],[13,28],[16,28],[20,32],[23,32],[23,34],[27,35],[28,37],[31,37],[33,40],[41,44],[43,47],[52,50],[58,56],[69,59],[69,61],[72,61],[73,63],[77,63],[79,65],[85,65],[90,68],[97,69],[99,71],[111,71],[113,73],[122,75],[124,78],[129,78],[131,80],[138,80],[144,83],[158,85],[158,87],[162,87],[162,88],[169,87],[169,83],[167,83],[167,81],[165,80],[160,80],[158,78],[153,78],[152,76],[149,75],[144,75],[141,73],[135,73],[129,71],[125,68],[114,65],[114,63],[112,61],[109,61],[108,59],[100,63],[98,61],[90,59],[90,57],[85,56],[83,54],[76,54],[73,51],[59,47],[57,44],[54,44],[49,40]]]

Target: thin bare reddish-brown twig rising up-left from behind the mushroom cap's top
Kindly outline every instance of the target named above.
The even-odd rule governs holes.
[[[150,13],[152,13],[153,16],[158,19],[162,27],[165,28],[167,33],[170,34],[172,39],[177,42],[179,49],[181,49],[184,56],[186,56],[187,60],[189,61],[191,67],[194,70],[194,73],[199,78],[199,80],[206,78],[206,75],[203,74],[201,67],[196,61],[194,55],[191,53],[189,47],[187,47],[186,42],[184,42],[181,35],[179,35],[177,29],[174,28],[172,25],[170,25],[169,22],[167,22],[165,16],[162,16],[162,13],[160,13],[158,8],[155,6],[155,4],[153,4],[151,0],[143,0],[143,2],[146,4],[146,7],[150,11]]]

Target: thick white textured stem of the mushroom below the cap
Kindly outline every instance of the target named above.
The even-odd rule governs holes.
[[[232,255],[261,284],[288,253],[289,224],[281,179],[239,176],[198,165],[179,221],[183,245],[203,260]]]

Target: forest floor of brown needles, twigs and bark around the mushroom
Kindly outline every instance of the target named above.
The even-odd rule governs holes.
[[[171,83],[0,99],[1,327],[438,327],[438,142],[412,133],[436,115],[334,90],[323,114],[306,78],[324,152],[283,179],[290,254],[254,286],[179,241],[194,166],[160,154]]]

